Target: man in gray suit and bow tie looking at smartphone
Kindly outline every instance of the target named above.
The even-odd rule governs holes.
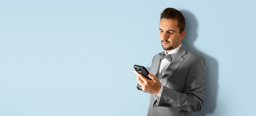
[[[185,18],[166,8],[160,17],[160,40],[164,48],[154,56],[147,79],[136,73],[138,89],[151,94],[148,116],[192,116],[203,106],[205,59],[181,45]]]

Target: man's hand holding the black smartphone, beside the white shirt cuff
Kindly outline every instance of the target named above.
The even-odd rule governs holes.
[[[154,95],[157,95],[159,93],[162,85],[159,79],[156,78],[156,75],[153,75],[150,73],[149,77],[152,79],[150,80],[136,71],[134,71],[134,73],[136,73],[138,84],[141,86],[144,92],[154,94]]]

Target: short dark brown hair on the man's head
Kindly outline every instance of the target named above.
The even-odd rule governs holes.
[[[169,19],[178,19],[178,27],[180,29],[180,33],[185,30],[186,21],[184,16],[180,11],[175,8],[166,8],[162,13],[160,20],[162,18],[169,18]]]

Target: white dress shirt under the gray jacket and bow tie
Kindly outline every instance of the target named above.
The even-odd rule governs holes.
[[[176,47],[175,49],[173,49],[172,51],[170,51],[168,54],[174,54],[177,53],[177,51],[181,48],[181,44]],[[167,52],[165,51],[165,54],[167,54]],[[168,55],[167,54],[167,55]],[[162,75],[164,75],[166,73],[166,69],[168,68],[168,66],[170,65],[170,61],[167,60],[166,58],[161,60],[161,64],[160,64],[160,68],[159,68],[159,73],[162,73]],[[155,95],[155,99],[157,100],[157,102],[159,102],[161,95],[163,92],[163,85],[161,86],[157,96]]]

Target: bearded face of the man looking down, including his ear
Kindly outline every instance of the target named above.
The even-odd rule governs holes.
[[[180,33],[177,19],[162,18],[159,30],[161,44],[167,53],[178,47],[185,36],[185,31]]]

